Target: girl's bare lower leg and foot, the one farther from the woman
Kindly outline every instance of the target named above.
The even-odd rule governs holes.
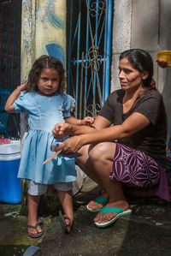
[[[27,216],[27,225],[35,226],[38,221],[38,204],[40,195],[31,195],[28,193],[28,216]],[[42,229],[38,226],[38,233],[42,232]],[[36,229],[28,228],[28,235],[37,234]]]

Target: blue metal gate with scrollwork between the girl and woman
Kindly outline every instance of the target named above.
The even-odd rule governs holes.
[[[96,117],[109,95],[112,3],[68,1],[68,93],[75,117]]]

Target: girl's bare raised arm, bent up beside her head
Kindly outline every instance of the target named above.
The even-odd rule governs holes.
[[[27,84],[25,83],[21,86],[17,86],[16,89],[9,95],[9,98],[7,99],[6,104],[5,104],[5,110],[7,112],[9,112],[9,113],[15,112],[14,102],[19,97],[21,92],[26,90],[26,85]]]

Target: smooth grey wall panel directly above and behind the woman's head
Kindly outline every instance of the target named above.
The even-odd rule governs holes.
[[[131,48],[149,51],[153,58],[155,80],[158,79],[156,53],[159,40],[159,3],[160,0],[134,0],[131,31]],[[162,92],[158,83],[157,87]]]

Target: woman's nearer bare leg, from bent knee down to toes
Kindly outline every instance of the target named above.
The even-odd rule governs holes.
[[[89,152],[89,159],[92,168],[96,170],[98,178],[103,183],[105,191],[109,194],[109,203],[106,207],[116,207],[123,211],[128,208],[127,199],[123,193],[121,184],[116,181],[109,180],[109,174],[113,167],[113,158],[115,156],[115,143],[105,142],[94,146]],[[117,215],[115,212],[104,213],[99,212],[95,217],[95,222],[107,222]]]

